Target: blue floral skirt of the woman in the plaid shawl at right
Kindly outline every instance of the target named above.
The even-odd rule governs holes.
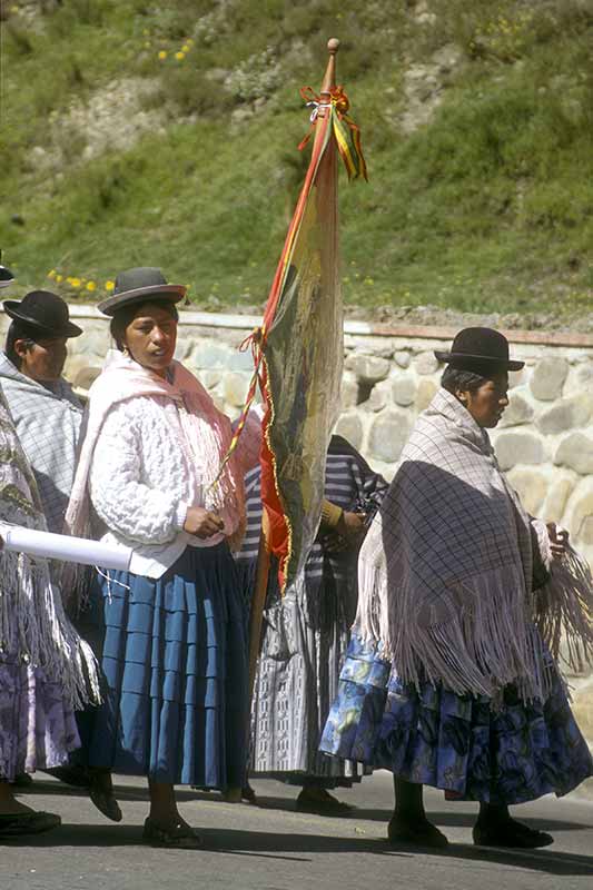
[[[507,686],[495,711],[485,696],[403,684],[376,647],[353,636],[320,749],[457,800],[512,804],[566,794],[593,774],[593,760],[550,670],[543,704],[525,704]]]

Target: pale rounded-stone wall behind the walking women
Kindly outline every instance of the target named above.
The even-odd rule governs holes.
[[[73,307],[85,333],[69,340],[68,377],[99,368],[107,323],[92,307]],[[250,379],[249,352],[237,347],[259,318],[182,313],[177,357],[216,402],[236,416]],[[6,329],[7,319],[0,315]],[[342,415],[337,432],[391,478],[418,413],[438,387],[434,349],[454,330],[346,323]],[[566,526],[593,564],[593,337],[508,332],[512,354],[526,362],[511,375],[511,404],[493,432],[498,461],[534,514]],[[572,678],[577,719],[593,740],[593,674]]]

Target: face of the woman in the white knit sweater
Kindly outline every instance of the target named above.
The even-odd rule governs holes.
[[[145,303],[128,324],[123,343],[139,365],[164,377],[175,353],[177,322],[162,306]]]

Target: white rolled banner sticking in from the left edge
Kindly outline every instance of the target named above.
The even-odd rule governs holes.
[[[4,550],[42,556],[46,560],[60,560],[65,563],[98,565],[101,568],[127,572],[130,567],[131,547],[119,547],[89,541],[86,537],[56,535],[52,532],[37,532],[20,525],[0,523],[0,536]]]

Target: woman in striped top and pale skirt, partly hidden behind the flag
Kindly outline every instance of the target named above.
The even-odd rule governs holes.
[[[250,597],[261,523],[259,467],[245,484],[247,534],[237,561]],[[250,773],[300,787],[297,809],[304,812],[347,813],[350,808],[329,789],[349,787],[362,775],[356,764],[320,754],[318,744],[356,613],[358,548],[386,490],[385,479],[358,452],[333,436],[327,500],[304,581],[280,599],[274,567],[269,574],[251,706]]]

